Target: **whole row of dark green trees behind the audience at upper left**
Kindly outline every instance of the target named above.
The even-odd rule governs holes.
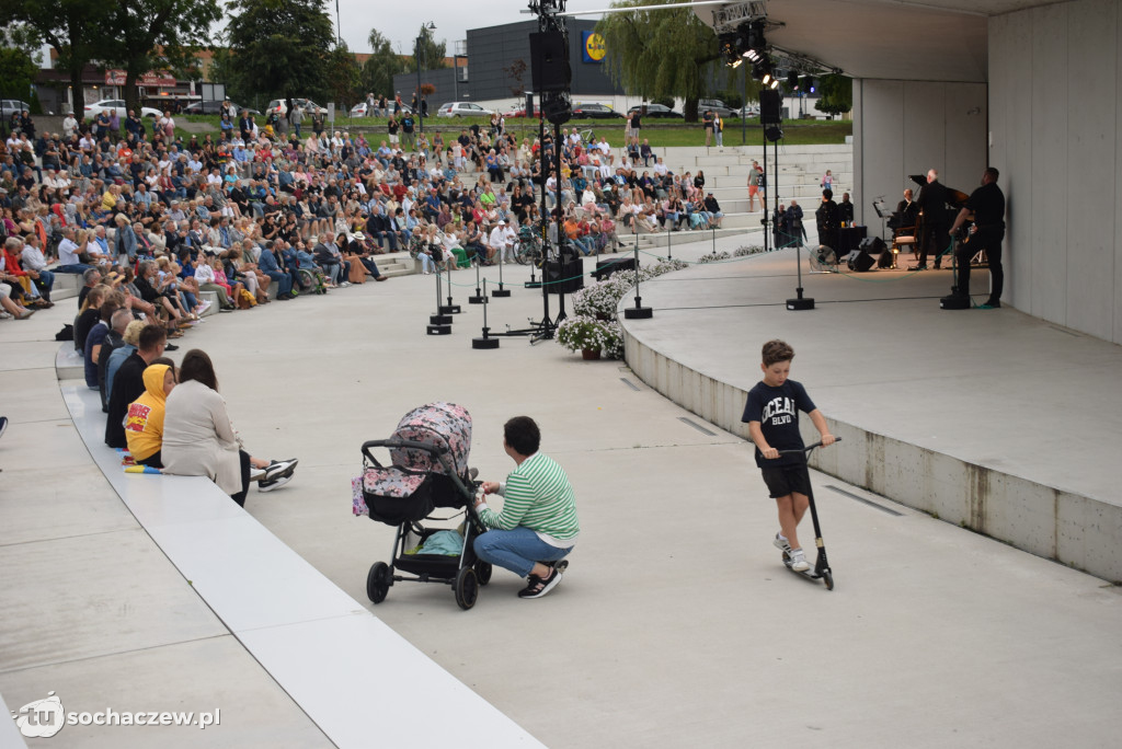
[[[236,100],[306,96],[353,103],[366,93],[393,95],[394,75],[443,67],[445,46],[423,28],[412,57],[395,52],[371,29],[374,53],[364,64],[337,38],[327,0],[0,0],[8,26],[0,36],[0,87],[22,99],[36,74],[35,49],[47,44],[67,73],[75,112],[85,107],[83,72],[126,73],[125,101],[139,107],[137,81],[167,70],[181,80],[202,80],[199,52],[209,49],[209,81],[224,83]],[[229,13],[224,29],[214,27]]]

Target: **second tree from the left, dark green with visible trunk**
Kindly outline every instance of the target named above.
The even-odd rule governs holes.
[[[138,110],[137,78],[149,71],[197,78],[194,52],[221,17],[218,0],[118,0],[100,56],[125,68],[126,105]]]

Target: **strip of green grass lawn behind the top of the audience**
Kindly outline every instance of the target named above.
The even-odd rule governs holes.
[[[208,114],[191,114],[191,115],[180,115],[176,119],[185,119],[187,122],[197,124],[210,124],[213,127],[212,132],[218,136],[218,118]],[[444,136],[444,141],[448,142],[451,138],[450,136],[459,133],[462,128],[468,128],[472,123],[479,124],[481,128],[487,127],[487,121],[484,119],[471,120],[471,119],[435,119],[425,118],[425,132],[432,133],[434,130],[439,130]],[[260,124],[260,122],[258,122]],[[367,133],[367,139],[373,140],[377,144],[379,140],[386,137],[386,120],[383,118],[357,118],[351,119],[349,117],[341,117],[335,120],[334,127],[340,130],[348,130],[350,132],[362,132]],[[528,138],[534,138],[537,135],[537,123],[525,119],[508,119],[506,121],[506,127],[508,132],[513,132],[517,139],[521,141],[523,136]],[[604,136],[608,139],[608,142],[613,146],[619,146],[623,144],[624,139],[624,123],[622,120],[572,120],[561,126],[563,128],[577,127],[581,132],[586,130],[591,130],[594,135],[599,138]],[[302,131],[306,135],[311,131],[311,123],[305,122],[302,127]],[[374,138],[370,138],[370,132],[373,131]],[[178,135],[178,133],[177,133]],[[185,133],[190,137],[190,133]],[[196,133],[200,139],[204,133]],[[817,145],[817,144],[844,144],[845,137],[853,135],[853,122],[843,120],[784,120],[783,121],[783,139],[780,140],[780,145],[783,146],[804,146],[804,145]],[[674,120],[670,122],[659,121],[651,122],[644,126],[643,137],[651,141],[651,145],[656,148],[673,147],[673,146],[705,146],[705,130],[701,129],[701,124],[686,124],[680,120]],[[743,144],[748,146],[760,146],[763,141],[763,129],[760,126],[758,119],[748,120],[744,128],[744,140]],[[742,128],[741,120],[730,119],[725,126],[725,145],[726,146],[739,146],[742,145]]]

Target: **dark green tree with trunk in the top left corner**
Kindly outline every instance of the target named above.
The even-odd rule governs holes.
[[[26,24],[58,53],[57,66],[70,75],[74,112],[85,109],[82,72],[98,59],[113,3],[100,0],[0,0],[0,16]]]

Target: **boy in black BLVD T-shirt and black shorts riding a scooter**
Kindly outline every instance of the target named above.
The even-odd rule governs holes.
[[[773,543],[788,554],[791,570],[806,572],[810,564],[799,545],[797,529],[807,511],[810,472],[803,455],[780,455],[780,451],[803,449],[799,433],[800,410],[810,416],[822,436],[824,446],[834,444],[835,438],[826,426],[826,417],[815,407],[806,388],[788,379],[794,349],[783,341],[764,344],[763,362],[760,364],[764,379],[748,391],[741,420],[748,425],[748,434],[756,446],[756,465],[779,509],[780,531]]]

